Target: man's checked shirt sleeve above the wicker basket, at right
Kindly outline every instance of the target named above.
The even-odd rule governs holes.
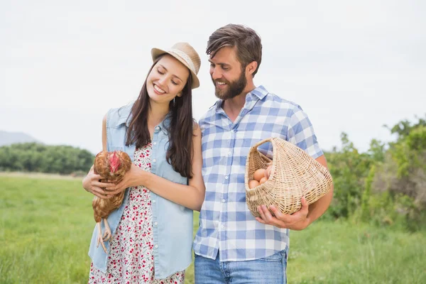
[[[315,136],[310,119],[300,107],[296,107],[293,115],[290,116],[287,141],[295,144],[314,159],[324,154],[317,142],[317,136]]]

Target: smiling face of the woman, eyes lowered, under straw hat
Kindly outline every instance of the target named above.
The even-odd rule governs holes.
[[[163,55],[154,65],[146,80],[146,89],[151,100],[169,104],[176,96],[182,96],[190,70],[171,55]]]

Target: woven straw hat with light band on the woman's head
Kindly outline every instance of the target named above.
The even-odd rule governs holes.
[[[195,51],[189,43],[176,43],[169,50],[161,50],[159,48],[153,48],[151,50],[153,60],[165,53],[172,55],[190,70],[192,75],[191,89],[200,87],[200,81],[198,80],[197,74],[200,70],[201,60],[197,51]]]

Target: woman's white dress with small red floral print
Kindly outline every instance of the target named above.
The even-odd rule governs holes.
[[[151,143],[136,149],[133,163],[142,170],[151,171]],[[150,191],[143,186],[131,187],[129,204],[110,240],[107,273],[102,273],[92,263],[89,283],[183,283],[185,271],[165,279],[154,279],[152,218]]]

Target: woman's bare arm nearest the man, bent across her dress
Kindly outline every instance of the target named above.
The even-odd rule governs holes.
[[[192,178],[189,185],[180,185],[165,178],[161,178],[153,173],[141,170],[136,165],[132,165],[131,170],[124,179],[115,186],[107,187],[107,195],[115,195],[117,192],[130,186],[144,185],[149,190],[160,197],[178,203],[187,208],[200,211],[204,201],[205,185],[202,179],[202,150],[201,150],[201,130],[196,124],[194,136],[192,137],[193,157],[192,157]]]

